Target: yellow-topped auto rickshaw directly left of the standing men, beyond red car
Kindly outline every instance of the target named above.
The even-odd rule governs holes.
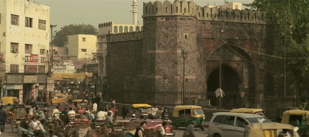
[[[151,114],[151,106],[148,104],[133,104],[132,113],[135,114],[136,118],[140,118],[141,115],[144,116],[144,119],[148,119]]]

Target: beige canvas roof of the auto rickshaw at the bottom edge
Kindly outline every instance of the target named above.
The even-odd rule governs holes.
[[[281,124],[281,123],[251,123],[245,127],[245,137],[263,137],[263,130],[271,130],[271,129],[290,129],[293,130],[294,127],[289,124]]]

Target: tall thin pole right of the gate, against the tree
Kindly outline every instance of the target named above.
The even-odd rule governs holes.
[[[283,27],[283,28],[282,28]],[[289,30],[287,27],[289,27],[288,25],[283,25],[281,26],[280,28],[280,37],[284,39],[283,43],[284,43],[284,107],[286,107],[286,37],[289,37],[289,36],[286,36],[286,30]],[[283,30],[283,32],[282,32]]]

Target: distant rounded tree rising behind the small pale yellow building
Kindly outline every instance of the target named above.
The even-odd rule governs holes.
[[[70,35],[76,34],[89,34],[95,35],[98,33],[98,29],[90,24],[70,24],[61,27],[59,31],[55,30],[53,35],[53,45],[57,47],[63,47],[68,41]]]

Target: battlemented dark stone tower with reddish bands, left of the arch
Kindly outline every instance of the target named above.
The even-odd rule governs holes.
[[[193,1],[148,2],[143,4],[143,59],[145,87],[181,90],[182,49],[185,59],[185,90],[200,89],[197,53],[197,6]]]

